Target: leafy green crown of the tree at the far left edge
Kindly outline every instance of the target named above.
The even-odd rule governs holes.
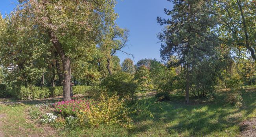
[[[25,16],[25,15],[24,15]],[[47,67],[50,41],[47,35],[33,28],[33,22],[11,13],[1,17],[0,63],[4,67],[14,66],[9,81],[23,85],[35,84]]]

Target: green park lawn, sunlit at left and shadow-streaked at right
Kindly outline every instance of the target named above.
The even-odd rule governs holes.
[[[183,103],[184,96],[173,94],[173,100],[156,103],[155,97],[140,99],[140,103],[153,114],[132,115],[134,128],[125,129],[118,125],[103,125],[97,128],[77,128],[75,130],[62,129],[55,131],[52,136],[206,136],[232,137],[239,135],[241,122],[256,117],[256,88],[249,87],[243,91],[243,106],[227,105],[219,91],[215,99],[193,99],[190,105]],[[0,114],[7,114],[0,119],[6,136],[48,135],[45,128],[29,122],[26,119],[26,108],[29,103],[21,105],[0,105]],[[28,122],[26,122],[28,121]],[[22,129],[20,132],[20,128]]]

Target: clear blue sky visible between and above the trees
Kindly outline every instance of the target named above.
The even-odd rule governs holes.
[[[129,42],[131,46],[124,48],[128,53],[134,54],[135,63],[140,59],[151,58],[160,60],[160,43],[157,33],[163,26],[157,23],[157,16],[166,17],[164,8],[171,9],[172,5],[167,0],[117,0],[115,7],[119,18],[117,24],[130,30]],[[10,13],[17,0],[1,0],[0,11],[2,14]],[[121,59],[132,58],[121,52],[116,54]]]

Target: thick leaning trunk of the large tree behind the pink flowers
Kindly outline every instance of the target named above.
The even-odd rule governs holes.
[[[53,46],[59,54],[63,64],[63,101],[71,100],[70,97],[70,58],[65,55],[63,47],[52,30],[48,30]]]

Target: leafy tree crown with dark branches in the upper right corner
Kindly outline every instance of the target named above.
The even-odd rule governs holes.
[[[256,60],[256,5],[251,0],[215,0],[212,12],[219,18],[219,39],[228,47],[249,50]]]

